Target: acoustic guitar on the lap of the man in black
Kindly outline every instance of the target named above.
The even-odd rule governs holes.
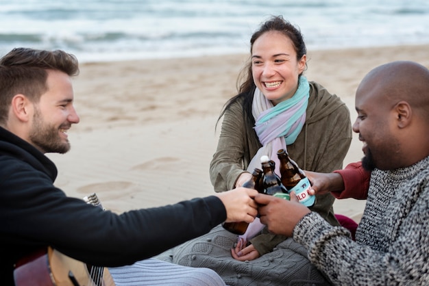
[[[103,209],[96,194],[84,200]],[[88,265],[50,246],[16,263],[14,281],[16,286],[114,286],[108,268]]]

